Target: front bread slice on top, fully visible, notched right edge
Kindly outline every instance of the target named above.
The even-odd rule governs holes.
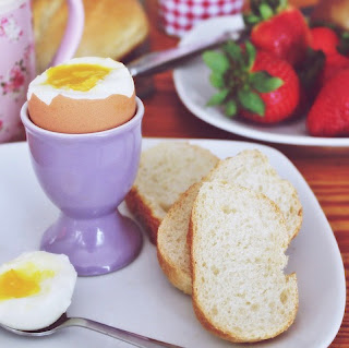
[[[289,235],[272,200],[239,185],[203,183],[189,242],[193,305],[206,329],[230,341],[252,343],[293,323],[297,277],[284,274]]]

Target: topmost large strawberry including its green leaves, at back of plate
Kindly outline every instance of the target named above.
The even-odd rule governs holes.
[[[246,25],[252,27],[251,41],[296,65],[305,56],[311,33],[303,14],[282,0],[251,0]]]

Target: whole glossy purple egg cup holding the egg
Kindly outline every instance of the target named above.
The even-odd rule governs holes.
[[[44,130],[31,121],[27,104],[21,111],[34,171],[60,208],[40,249],[68,255],[80,276],[120,269],[142,248],[139,226],[118,211],[140,163],[144,106],[136,103],[127,123],[87,134]]]

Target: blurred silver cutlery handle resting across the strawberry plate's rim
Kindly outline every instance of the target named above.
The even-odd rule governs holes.
[[[133,60],[128,69],[133,77],[151,75],[167,69],[173,68],[183,61],[193,58],[202,51],[217,47],[229,39],[241,39],[243,31],[226,32],[218,37],[205,41],[197,41],[191,45],[178,46],[174,48],[151,52]]]

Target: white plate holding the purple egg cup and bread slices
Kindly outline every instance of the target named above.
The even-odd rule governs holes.
[[[159,140],[144,140],[144,147]],[[232,141],[192,140],[219,157],[244,148],[260,148],[280,176],[297,188],[304,208],[299,236],[289,248],[288,272],[297,272],[300,307],[294,324],[279,337],[253,347],[322,348],[336,336],[345,311],[342,261],[333,231],[314,194],[294,166],[270,147]],[[0,146],[0,263],[36,250],[58,209],[48,201],[34,176],[26,143]],[[122,204],[122,212],[128,213]],[[206,333],[196,321],[191,298],[171,287],[144,238],[141,255],[122,271],[79,278],[70,315],[85,316],[185,348],[224,348],[233,345]],[[44,338],[28,339],[0,331],[0,347],[130,347],[83,328],[68,328]],[[237,347],[251,347],[239,345]]]

